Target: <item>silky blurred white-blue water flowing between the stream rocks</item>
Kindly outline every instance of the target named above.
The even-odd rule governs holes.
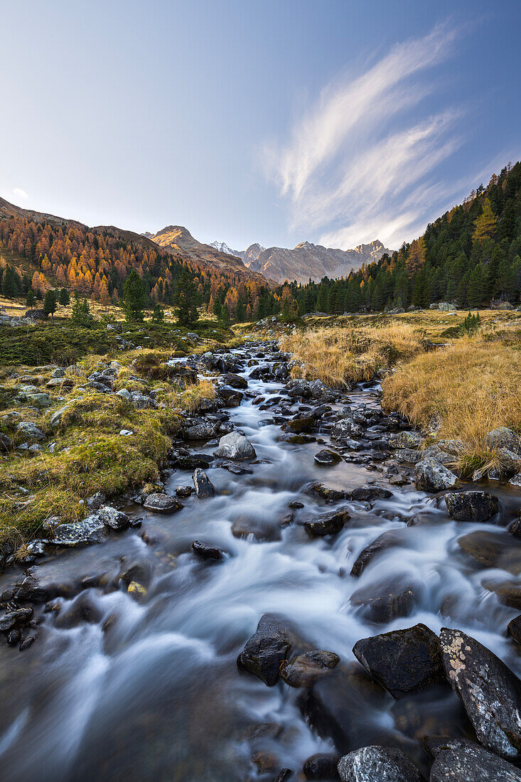
[[[238,355],[248,358],[254,349]],[[246,378],[250,371],[244,370]],[[281,389],[250,379],[251,393],[229,411],[257,450],[251,474],[210,468],[214,498],[192,495],[182,500],[185,508],[166,516],[144,515],[134,506],[128,512],[144,515],[141,529],[38,562],[35,575],[59,578],[71,594],[85,578],[95,576],[95,586],[53,601],[59,613],[36,608],[38,638],[27,651],[0,647],[0,768],[6,782],[239,782],[273,780],[282,767],[302,779],[297,772],[304,760],[332,752],[331,739],[318,737],[304,719],[300,691],[282,682],[266,687],[235,665],[266,612],[288,619],[307,647],[335,651],[347,669],[358,639],[425,622],[436,632],[441,626],[465,630],[519,673],[516,649],[505,635],[517,612],[482,586],[483,580],[512,576],[469,557],[458,537],[479,529],[495,531],[505,545],[521,544],[502,526],[451,521],[439,497],[411,485],[392,486],[393,497],[372,504],[325,505],[303,495],[311,480],[350,491],[374,481],[386,486],[386,479],[369,472],[363,458],[361,464],[321,468],[314,463],[317,443],[278,442],[273,412],[252,403],[257,394],[269,400]],[[349,400],[343,404],[378,405],[370,386],[350,393]],[[189,482],[190,472],[172,472],[167,491]],[[294,511],[292,523],[276,525],[294,500],[303,500],[305,508]],[[505,525],[519,500],[506,493],[501,500]],[[346,504],[351,520],[336,536],[310,538],[299,523]],[[236,538],[231,528],[238,518],[275,529],[279,539]],[[411,519],[417,523],[408,526]],[[350,576],[361,550],[386,530],[397,531],[393,546],[358,579]],[[199,561],[193,540],[221,548],[225,558]],[[141,601],[114,588],[118,574],[136,564],[146,574]],[[12,582],[13,573],[5,573],[0,587]],[[375,624],[351,597],[357,591],[376,594],[383,582],[411,585],[415,604],[409,615]],[[451,691],[399,702],[386,694],[365,700],[363,688],[358,699],[357,692],[355,687],[351,699],[330,692],[341,701],[336,707],[347,710],[355,746],[377,743],[385,734],[387,743],[400,744],[417,759],[419,739],[429,730],[469,728]]]

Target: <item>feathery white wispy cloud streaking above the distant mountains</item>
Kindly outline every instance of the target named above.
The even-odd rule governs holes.
[[[462,144],[462,109],[422,117],[433,84],[419,74],[447,58],[456,37],[445,23],[395,46],[365,73],[325,88],[289,143],[264,150],[290,228],[320,233],[330,246],[376,238],[397,246],[421,230],[434,196],[455,195],[433,174]]]

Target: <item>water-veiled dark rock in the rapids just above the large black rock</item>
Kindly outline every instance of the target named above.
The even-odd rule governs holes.
[[[382,624],[411,615],[417,604],[416,590],[414,584],[403,579],[388,579],[356,590],[350,602],[354,608],[363,607],[372,622]]]

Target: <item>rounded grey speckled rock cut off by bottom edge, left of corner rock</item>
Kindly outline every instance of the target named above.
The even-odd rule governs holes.
[[[422,775],[396,747],[362,747],[338,764],[342,782],[422,782]]]

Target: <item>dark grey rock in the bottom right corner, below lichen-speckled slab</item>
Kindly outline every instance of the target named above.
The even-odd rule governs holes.
[[[512,763],[464,738],[438,739],[430,769],[430,782],[521,782],[521,772]]]

